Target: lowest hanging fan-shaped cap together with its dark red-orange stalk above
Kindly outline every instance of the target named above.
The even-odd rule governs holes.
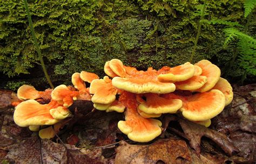
[[[126,107],[125,121],[118,122],[118,128],[129,139],[137,142],[148,142],[161,134],[161,121],[143,118],[137,112],[136,95],[122,92],[119,101]]]

